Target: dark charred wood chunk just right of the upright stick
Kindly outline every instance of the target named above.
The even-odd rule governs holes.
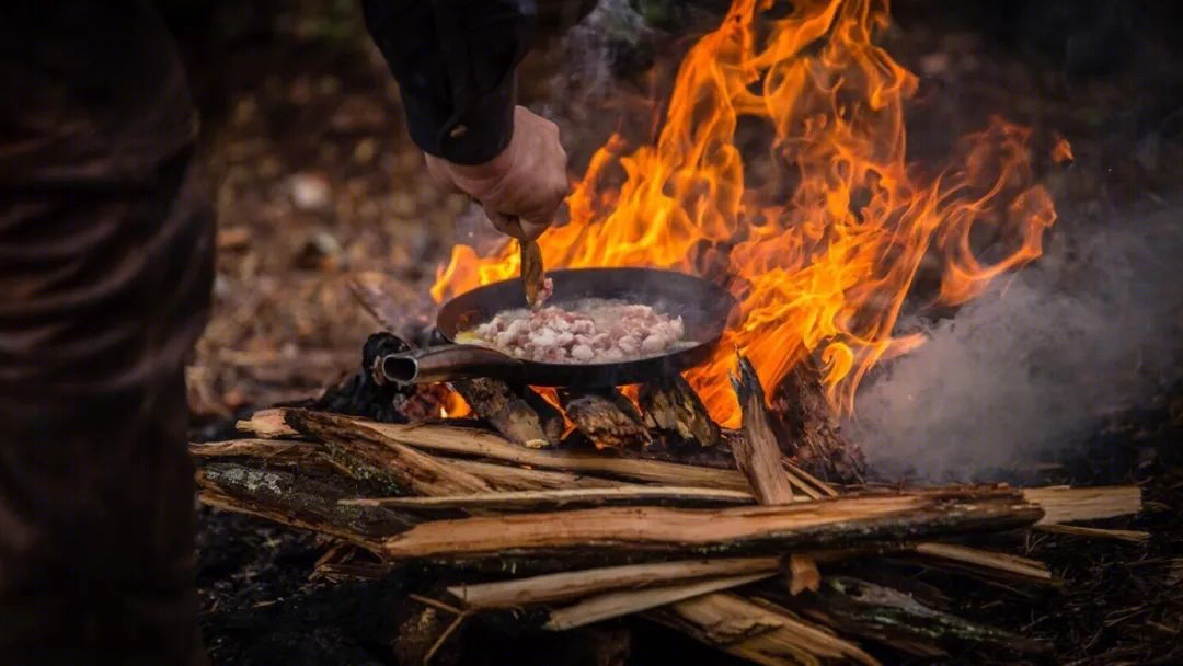
[[[826,480],[860,483],[866,472],[862,451],[841,433],[812,361],[797,363],[772,392],[774,426],[784,453],[803,470]]]

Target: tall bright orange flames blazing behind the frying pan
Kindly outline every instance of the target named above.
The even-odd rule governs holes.
[[[569,222],[541,239],[548,267],[725,280],[738,317],[715,358],[687,374],[725,425],[739,418],[726,381],[736,349],[765,387],[820,360],[830,400],[849,409],[872,366],[919,344],[893,336],[914,284],[959,304],[1039,257],[1055,220],[1016,125],[994,119],[936,173],[905,162],[917,79],[872,43],[885,1],[796,2],[782,17],[772,5],[733,1],[681,63],[657,142],[612,137],[568,198]],[[741,155],[748,119],[765,127],[763,155]],[[971,238],[997,240],[989,260]],[[458,246],[433,296],[517,273],[512,247],[478,257]]]

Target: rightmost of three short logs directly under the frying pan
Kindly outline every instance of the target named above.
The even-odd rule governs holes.
[[[672,438],[677,444],[707,448],[720,440],[719,426],[711,419],[698,393],[678,374],[641,384],[639,395],[645,426]]]

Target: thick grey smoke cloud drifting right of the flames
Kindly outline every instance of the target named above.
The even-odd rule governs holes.
[[[989,479],[1053,459],[1177,379],[1179,212],[1062,235],[952,318],[923,324],[930,341],[862,387],[849,427],[877,471]]]

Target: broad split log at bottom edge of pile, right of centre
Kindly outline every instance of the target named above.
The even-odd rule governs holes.
[[[735,594],[710,594],[651,610],[646,617],[723,652],[767,666],[820,666],[823,661],[879,661],[827,628],[776,604]]]

